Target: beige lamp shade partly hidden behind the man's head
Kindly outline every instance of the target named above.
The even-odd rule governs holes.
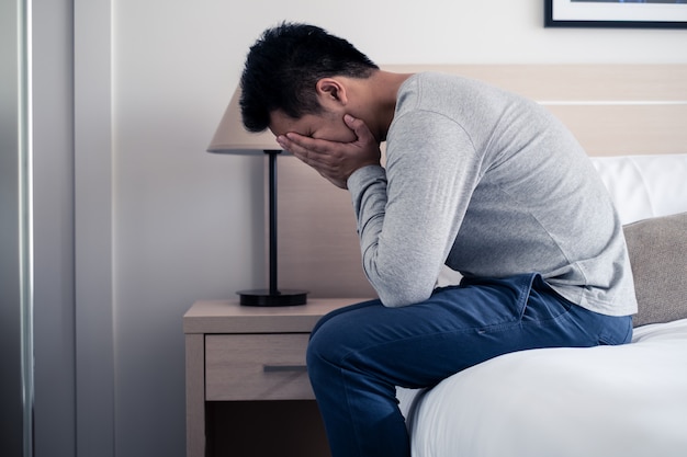
[[[267,150],[281,150],[274,135],[269,129],[258,134],[246,130],[238,104],[240,94],[240,87],[236,88],[215,136],[207,147],[207,152],[247,156],[263,153]]]

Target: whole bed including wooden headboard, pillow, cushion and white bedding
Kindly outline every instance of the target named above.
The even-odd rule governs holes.
[[[640,302],[631,344],[523,351],[399,388],[414,456],[686,456],[687,66],[387,68],[474,77],[556,114],[616,203]],[[348,193],[290,159],[279,185],[282,287],[374,296]]]

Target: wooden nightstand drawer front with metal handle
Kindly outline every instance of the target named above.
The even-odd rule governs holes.
[[[309,333],[205,336],[205,399],[314,399],[305,350]]]

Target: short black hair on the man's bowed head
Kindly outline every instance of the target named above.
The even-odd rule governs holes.
[[[240,79],[244,126],[262,132],[277,110],[293,118],[318,114],[319,79],[368,78],[376,69],[349,42],[315,25],[284,22],[268,28],[250,47]]]

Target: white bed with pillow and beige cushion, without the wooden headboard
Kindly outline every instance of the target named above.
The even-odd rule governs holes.
[[[627,224],[632,343],[506,354],[398,389],[415,456],[687,455],[687,155],[593,161]]]

